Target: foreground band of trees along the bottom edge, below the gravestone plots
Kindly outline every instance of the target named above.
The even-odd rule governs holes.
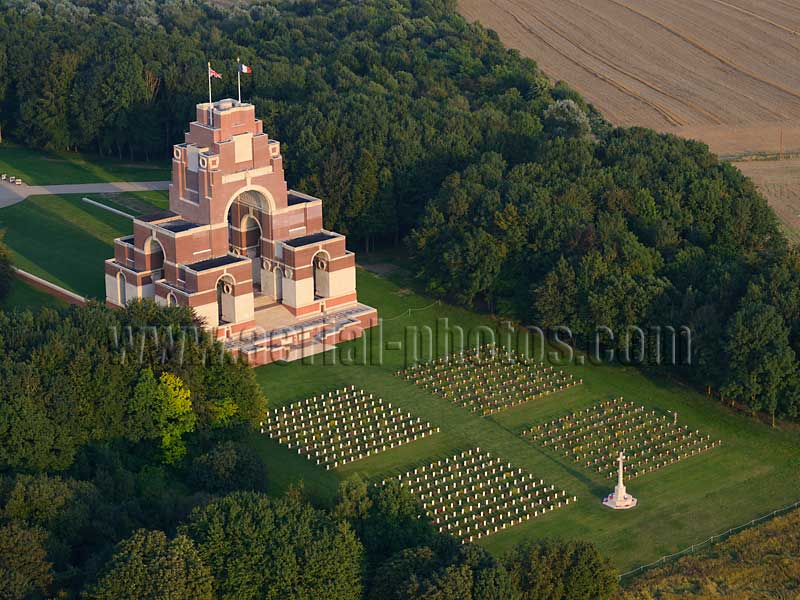
[[[312,506],[299,488],[268,496],[267,478],[258,457],[234,442],[217,442],[179,468],[105,445],[85,449],[67,475],[2,477],[0,596],[607,600],[618,594],[615,571],[589,543],[527,543],[497,559],[436,533],[398,485],[349,480],[326,509]]]

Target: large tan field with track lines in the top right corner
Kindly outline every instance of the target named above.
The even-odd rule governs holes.
[[[797,0],[459,0],[612,122],[721,156],[800,150]]]

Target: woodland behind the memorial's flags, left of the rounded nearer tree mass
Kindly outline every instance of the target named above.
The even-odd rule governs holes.
[[[207,97],[245,100],[283,142],[291,183],[355,240],[399,239],[453,170],[492,149],[528,156],[551,101],[530,61],[467,24],[454,0],[107,2],[0,8],[9,137],[164,159]]]

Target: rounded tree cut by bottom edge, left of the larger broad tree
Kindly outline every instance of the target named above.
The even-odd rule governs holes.
[[[117,546],[88,600],[211,600],[214,581],[192,541],[140,529]]]

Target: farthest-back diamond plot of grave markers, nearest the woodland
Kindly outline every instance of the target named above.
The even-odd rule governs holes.
[[[515,351],[471,348],[399,371],[403,377],[482,416],[583,383]]]

